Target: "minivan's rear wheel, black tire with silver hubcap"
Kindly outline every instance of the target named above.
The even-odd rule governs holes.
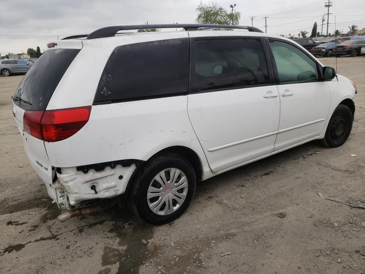
[[[176,172],[179,174],[176,175],[178,183],[171,181],[175,171],[180,171]],[[174,186],[176,190],[173,189]],[[129,205],[146,222],[154,225],[166,224],[185,212],[193,199],[195,186],[194,169],[184,157],[177,154],[159,156],[138,171],[128,195]]]

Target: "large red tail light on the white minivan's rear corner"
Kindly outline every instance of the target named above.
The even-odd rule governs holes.
[[[90,117],[91,106],[60,110],[26,110],[24,130],[32,136],[55,142],[78,132]]]

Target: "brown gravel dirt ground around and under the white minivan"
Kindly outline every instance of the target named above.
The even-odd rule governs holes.
[[[364,273],[365,209],[349,205],[365,206],[365,56],[337,61],[358,88],[343,146],[310,142],[199,183],[188,211],[162,226],[117,207],[59,222],[12,116],[23,76],[0,77],[0,272]]]

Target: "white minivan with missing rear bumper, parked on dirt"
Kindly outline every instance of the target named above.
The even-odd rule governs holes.
[[[49,43],[12,96],[29,161],[68,210],[59,220],[127,200],[164,224],[197,180],[349,137],[355,84],[290,39],[208,24],[118,33],[146,27]]]

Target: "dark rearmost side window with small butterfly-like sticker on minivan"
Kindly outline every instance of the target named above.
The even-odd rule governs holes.
[[[187,94],[188,49],[188,39],[116,47],[101,75],[94,103]]]

